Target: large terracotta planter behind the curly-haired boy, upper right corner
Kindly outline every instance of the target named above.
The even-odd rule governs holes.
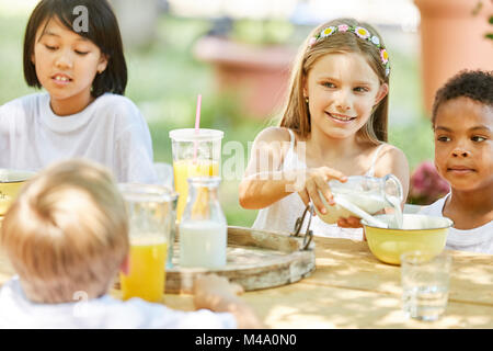
[[[488,18],[493,3],[477,0],[414,0],[421,12],[424,106],[432,112],[436,90],[461,69],[493,70],[493,41]]]

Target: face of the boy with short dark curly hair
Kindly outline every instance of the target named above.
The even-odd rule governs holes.
[[[435,125],[435,165],[454,189],[493,183],[493,106],[466,97],[444,102]]]

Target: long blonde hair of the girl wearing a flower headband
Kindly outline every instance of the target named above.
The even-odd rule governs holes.
[[[334,53],[362,54],[378,76],[380,83],[389,84],[389,75],[386,75],[386,67],[381,63],[379,49],[374,44],[359,38],[354,33],[337,32],[330,37],[317,41],[312,46],[309,45],[310,38],[314,37],[323,29],[341,24],[367,29],[372,35],[379,37],[380,44],[383,46],[383,41],[377,30],[368,23],[358,22],[354,19],[332,20],[319,25],[310,33],[303,45],[301,45],[295,65],[293,66],[287,103],[279,123],[279,126],[294,129],[302,137],[307,137],[311,132],[310,112],[303,97],[303,83],[308,77],[308,72],[319,58]],[[374,144],[387,141],[387,120],[388,94],[374,109],[367,123],[357,132],[357,136],[363,140],[368,140]]]

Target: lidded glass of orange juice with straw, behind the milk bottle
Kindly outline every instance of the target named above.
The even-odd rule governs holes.
[[[176,219],[180,222],[188,196],[191,177],[219,176],[223,132],[194,128],[170,132],[173,152],[174,189],[179,193]]]

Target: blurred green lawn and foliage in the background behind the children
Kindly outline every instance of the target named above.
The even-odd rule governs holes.
[[[22,41],[27,16],[28,13],[15,15],[0,13],[0,104],[35,92],[26,87],[22,69]],[[246,36],[255,42],[252,25],[254,27],[256,24],[252,22],[249,27],[249,23],[242,22],[236,31],[237,35],[244,36],[244,33],[250,33]],[[196,39],[209,27],[210,23],[205,20],[162,15],[151,45],[126,50],[129,70],[126,95],[139,106],[149,123],[156,161],[171,162],[169,131],[194,125],[198,93],[203,94],[200,126],[225,131],[223,143],[229,140],[241,143],[245,161],[248,143],[273,123],[271,120],[252,118],[245,111],[239,109],[234,94],[221,95],[216,92],[213,68],[197,61],[192,54]],[[286,23],[272,22],[264,32],[256,33],[263,35],[267,31],[271,33],[271,42],[279,42],[286,37],[274,34],[287,31],[293,34],[290,38],[297,45],[309,30],[290,27],[289,32]],[[263,44],[265,45],[265,41]],[[392,73],[389,141],[405,152],[411,169],[414,169],[422,160],[433,158],[433,134],[428,120],[422,113],[417,59],[399,49],[392,50],[392,47],[390,53]],[[405,118],[402,117],[401,111],[406,111]],[[239,181],[239,179],[228,180],[222,183],[221,204],[229,224],[250,226],[256,212],[240,207]]]

